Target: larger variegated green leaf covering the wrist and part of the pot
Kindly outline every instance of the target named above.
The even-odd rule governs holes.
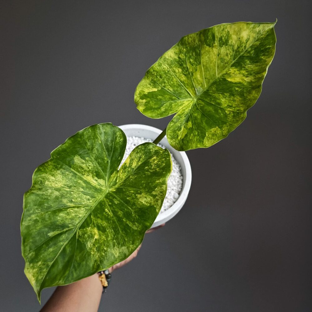
[[[118,170],[124,132],[96,124],[66,140],[33,174],[21,222],[25,274],[40,300],[127,258],[160,211],[171,172],[167,149],[137,146]]]

